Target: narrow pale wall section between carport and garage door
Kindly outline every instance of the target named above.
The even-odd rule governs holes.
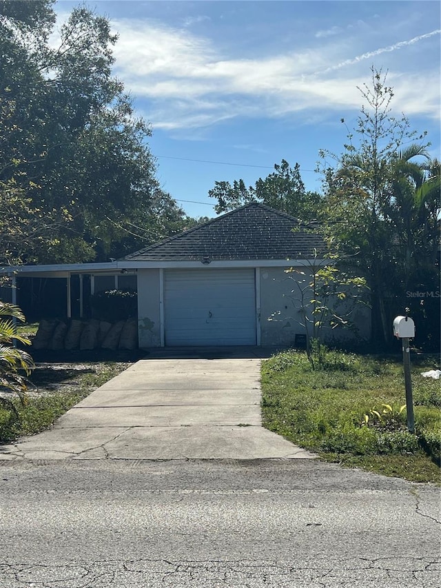
[[[139,347],[161,346],[160,270],[138,270]]]

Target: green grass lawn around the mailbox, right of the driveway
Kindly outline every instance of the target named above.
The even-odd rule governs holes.
[[[316,370],[295,350],[263,362],[263,424],[326,460],[439,483],[440,381],[420,375],[439,365],[434,356],[414,354],[411,363],[416,434],[407,432],[405,408],[400,413],[401,356],[342,352],[327,352]]]

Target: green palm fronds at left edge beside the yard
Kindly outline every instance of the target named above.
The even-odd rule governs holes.
[[[10,394],[17,394],[21,402],[25,403],[28,382],[20,372],[29,376],[35,366],[27,352],[14,347],[15,342],[30,345],[28,338],[17,333],[14,320],[25,320],[19,307],[0,301],[0,404],[17,415]]]

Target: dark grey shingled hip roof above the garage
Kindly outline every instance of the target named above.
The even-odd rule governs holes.
[[[316,229],[315,225],[315,229]],[[127,255],[131,261],[298,259],[323,250],[311,225],[260,203],[227,212],[165,241]]]

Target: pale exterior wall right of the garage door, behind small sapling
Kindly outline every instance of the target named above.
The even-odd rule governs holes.
[[[261,345],[292,346],[296,334],[305,334],[302,323],[301,290],[310,282],[311,271],[308,267],[298,267],[297,272],[285,273],[288,268],[260,268],[260,325]],[[294,268],[295,269],[295,268]],[[309,303],[310,292],[305,292],[305,303]],[[311,317],[310,317],[311,318]],[[338,327],[335,330],[323,330],[322,335],[328,343],[366,341],[370,338],[370,310],[357,305],[351,315],[351,321],[358,327],[356,333]]]

